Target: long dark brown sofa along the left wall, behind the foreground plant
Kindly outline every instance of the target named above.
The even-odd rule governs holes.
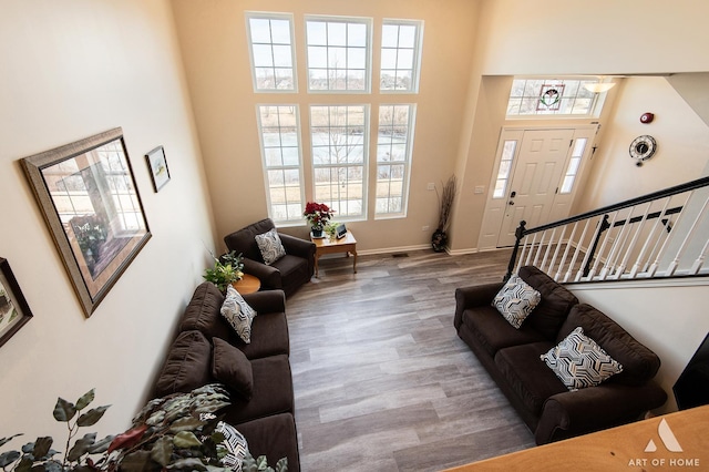
[[[230,406],[219,414],[246,438],[251,455],[266,455],[271,465],[288,458],[288,470],[299,471],[285,295],[269,290],[243,298],[257,314],[249,343],[220,315],[224,295],[210,283],[197,286],[153,397],[224,384]]]

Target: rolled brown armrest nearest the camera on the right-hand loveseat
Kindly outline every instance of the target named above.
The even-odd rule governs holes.
[[[667,393],[655,381],[633,387],[602,383],[577,391],[557,393],[544,402],[535,431],[537,444],[613,428],[661,407]]]

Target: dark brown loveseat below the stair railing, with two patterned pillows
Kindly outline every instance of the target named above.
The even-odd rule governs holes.
[[[536,267],[521,267],[518,278],[541,296],[518,328],[493,306],[504,283],[458,288],[453,324],[537,444],[635,421],[665,403],[667,393],[653,380],[660,360],[651,350]],[[623,370],[573,389],[542,356],[578,327]]]

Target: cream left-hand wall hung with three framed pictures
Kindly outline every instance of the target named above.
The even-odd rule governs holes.
[[[0,256],[34,315],[0,347],[0,437],[63,449],[56,397],[95,388],[112,404],[86,431],[100,434],[143,404],[214,244],[210,208],[167,1],[3,0],[0,63]],[[85,319],[19,160],[115,126],[153,238]],[[157,145],[172,174],[158,194],[144,160]]]

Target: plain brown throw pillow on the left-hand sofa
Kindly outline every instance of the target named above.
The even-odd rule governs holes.
[[[212,338],[212,377],[246,400],[254,394],[251,362],[238,348],[219,338]]]

